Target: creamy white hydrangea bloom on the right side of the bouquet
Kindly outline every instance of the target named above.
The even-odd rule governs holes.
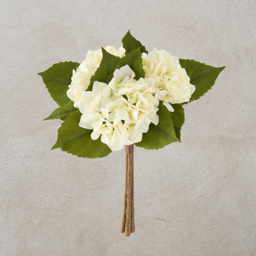
[[[174,111],[171,104],[189,101],[195,85],[190,84],[190,78],[176,56],[154,48],[148,54],[143,53],[142,58],[145,77],[153,78],[155,87],[160,89],[155,97],[163,101],[169,111]]]

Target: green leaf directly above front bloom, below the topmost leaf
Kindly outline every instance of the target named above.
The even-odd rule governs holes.
[[[108,75],[107,84],[111,81],[114,76],[114,71],[120,69],[122,66],[129,65],[129,67],[134,71],[136,80],[139,80],[141,77],[145,77],[145,71],[143,69],[143,62],[141,57],[141,51],[137,48],[134,51],[126,54],[122,59],[118,61],[112,73]]]

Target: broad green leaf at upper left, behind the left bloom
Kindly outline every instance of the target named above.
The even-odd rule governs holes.
[[[38,73],[48,89],[51,98],[61,107],[68,103],[70,99],[67,96],[68,85],[71,84],[73,69],[80,64],[77,62],[60,62],[53,64],[48,70]]]

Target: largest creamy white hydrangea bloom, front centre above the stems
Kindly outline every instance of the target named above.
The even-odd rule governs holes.
[[[94,140],[101,135],[112,151],[140,142],[149,124],[158,124],[154,79],[134,77],[126,65],[115,70],[109,85],[95,81],[92,91],[81,93],[79,126],[93,129]]]

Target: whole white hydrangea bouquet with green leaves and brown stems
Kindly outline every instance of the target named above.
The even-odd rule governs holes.
[[[83,158],[102,158],[126,146],[121,232],[134,226],[134,145],[159,149],[180,142],[183,105],[203,96],[225,68],[147,52],[128,31],[123,46],[88,51],[85,61],[60,62],[38,73],[60,106],[45,120],[61,119],[52,147]]]

